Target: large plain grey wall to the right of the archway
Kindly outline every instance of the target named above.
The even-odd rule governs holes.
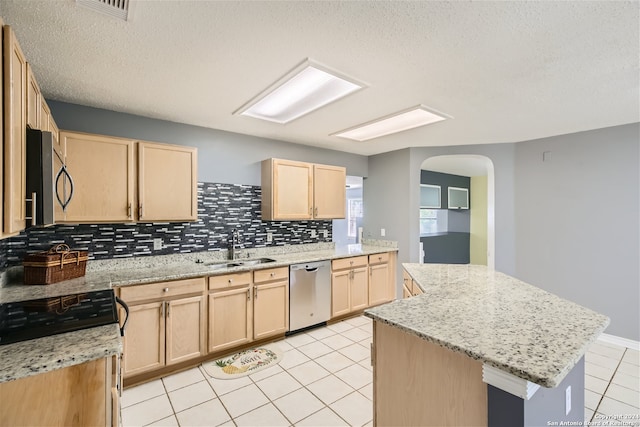
[[[517,277],[609,316],[607,333],[636,341],[639,141],[635,123],[523,142],[515,157]]]

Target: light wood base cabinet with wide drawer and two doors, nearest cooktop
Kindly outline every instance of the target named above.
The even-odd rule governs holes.
[[[129,305],[129,322],[123,339],[125,377],[205,354],[204,290],[204,278],[119,289],[120,298]]]

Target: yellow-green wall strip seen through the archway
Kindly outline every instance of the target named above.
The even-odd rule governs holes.
[[[470,198],[469,262],[487,265],[487,176],[472,176]]]

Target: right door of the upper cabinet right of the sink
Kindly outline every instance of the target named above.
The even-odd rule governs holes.
[[[347,171],[343,167],[313,166],[313,217],[344,218],[346,215]]]

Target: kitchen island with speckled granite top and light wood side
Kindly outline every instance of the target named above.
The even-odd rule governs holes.
[[[583,421],[583,356],[606,316],[485,266],[403,267],[424,293],[365,311],[376,425]]]

